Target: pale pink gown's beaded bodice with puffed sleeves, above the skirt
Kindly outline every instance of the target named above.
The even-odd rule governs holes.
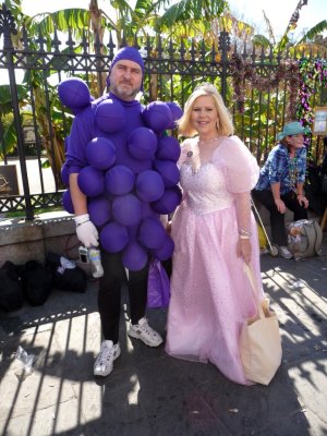
[[[218,137],[205,154],[196,138],[186,140],[179,167],[184,198],[197,215],[229,207],[235,194],[255,186],[259,171],[238,136]]]

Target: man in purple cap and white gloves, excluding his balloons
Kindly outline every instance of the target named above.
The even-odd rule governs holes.
[[[98,100],[78,113],[73,122],[66,152],[66,165],[70,170],[70,191],[75,211],[76,234],[86,246],[98,246],[98,230],[89,219],[87,197],[78,187],[80,171],[88,165],[86,145],[96,136],[105,136],[117,144],[118,164],[128,165],[137,171],[140,162],[133,161],[128,153],[129,134],[135,128],[143,126],[142,106],[135,99],[142,89],[144,62],[140,52],[133,47],[123,47],[118,51],[111,63],[109,73],[109,95]],[[126,118],[123,131],[110,133],[110,130],[97,125],[97,108],[105,99],[111,99],[122,105]],[[114,129],[112,129],[114,131]],[[109,133],[108,133],[109,132]],[[149,162],[152,168],[152,162]],[[107,376],[113,368],[113,361],[119,358],[119,324],[121,311],[121,288],[128,281],[131,325],[129,336],[141,339],[148,347],[158,347],[162,342],[160,335],[147,323],[145,317],[147,300],[148,263],[140,270],[130,270],[129,280],[120,253],[108,253],[101,250],[104,276],[99,280],[98,308],[101,319],[104,341],[98,358],[94,364],[94,375]]]

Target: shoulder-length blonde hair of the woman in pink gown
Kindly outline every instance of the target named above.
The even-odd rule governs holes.
[[[210,83],[202,83],[197,85],[191,96],[187,98],[184,106],[184,113],[178,121],[179,133],[183,136],[194,136],[197,132],[191,123],[191,113],[195,100],[202,96],[213,97],[214,104],[218,112],[217,132],[222,136],[230,136],[234,133],[232,117],[225,106],[221,95],[218,93],[216,86]]]

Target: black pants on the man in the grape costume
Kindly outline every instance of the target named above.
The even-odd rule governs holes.
[[[122,286],[128,283],[131,322],[137,324],[146,310],[148,265],[140,271],[129,271],[128,280],[120,254],[111,254],[101,250],[101,262],[105,274],[99,281],[98,310],[102,335],[106,340],[117,343]]]

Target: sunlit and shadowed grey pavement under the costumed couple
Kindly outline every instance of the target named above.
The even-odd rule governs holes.
[[[53,291],[45,305],[0,313],[0,434],[4,436],[327,435],[327,238],[323,256],[302,262],[262,255],[265,291],[280,320],[283,359],[268,387],[244,387],[211,364],[169,358],[126,337],[105,379],[96,283]],[[165,336],[166,311],[148,312]],[[36,355],[32,372],[17,346]]]

